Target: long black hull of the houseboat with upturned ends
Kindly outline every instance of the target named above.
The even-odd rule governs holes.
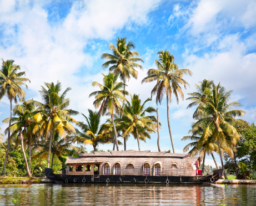
[[[83,175],[54,174],[46,168],[46,177],[56,183],[164,183],[164,184],[203,184],[218,181],[219,174],[209,176],[137,176],[137,175]]]

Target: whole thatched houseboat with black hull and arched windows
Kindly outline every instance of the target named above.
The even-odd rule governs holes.
[[[45,169],[46,177],[59,183],[214,183],[222,169],[202,175],[200,157],[190,154],[150,151],[111,151],[68,157],[67,169],[54,174]]]

